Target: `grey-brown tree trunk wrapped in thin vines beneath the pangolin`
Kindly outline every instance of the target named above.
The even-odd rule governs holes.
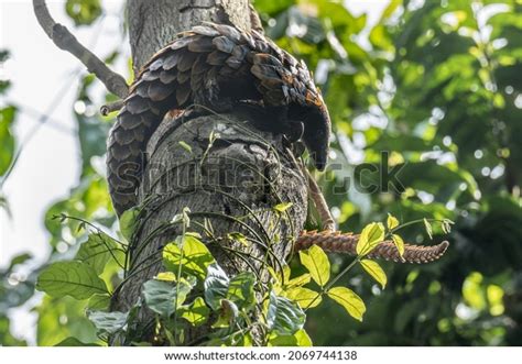
[[[128,7],[134,71],[177,32],[202,21],[251,26],[248,0],[129,0]],[[182,234],[180,225],[162,227],[184,208],[191,211],[189,231],[203,236],[227,273],[251,271],[265,282],[268,266],[282,267],[306,218],[307,185],[282,136],[255,128],[262,118],[255,109],[167,114],[148,146],[139,192],[145,208],[116,310],[129,310],[142,284],[162,271],[162,247]],[[273,209],[284,202],[292,202],[285,212]],[[231,239],[233,232],[242,233],[247,244]],[[143,340],[151,341],[151,323],[152,316],[142,311]],[[207,326],[186,332],[184,344],[204,341],[209,331]]]

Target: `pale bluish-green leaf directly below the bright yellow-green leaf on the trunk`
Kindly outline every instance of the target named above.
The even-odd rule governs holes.
[[[189,277],[173,285],[168,282],[151,279],[143,284],[143,298],[146,307],[162,317],[170,317],[183,305],[187,295],[196,285],[196,278]]]

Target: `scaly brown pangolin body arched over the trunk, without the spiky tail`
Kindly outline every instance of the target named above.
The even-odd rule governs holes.
[[[324,169],[330,121],[306,65],[255,31],[204,23],[143,66],[118,114],[107,157],[117,213],[135,206],[146,142],[168,110],[204,104],[224,111],[241,100],[262,101],[285,120],[302,122],[302,139]]]

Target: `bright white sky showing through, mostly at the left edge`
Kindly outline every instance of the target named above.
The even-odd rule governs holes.
[[[84,45],[93,45],[95,33],[99,31],[98,41],[91,47],[95,54],[105,56],[121,42],[122,0],[105,0],[108,15],[101,22],[79,30],[72,26],[64,12],[64,2],[47,1],[51,13]],[[347,0],[346,4],[356,15],[369,12],[369,22],[374,23],[388,2]],[[3,73],[13,81],[7,101],[22,108],[15,124],[17,140],[23,141],[28,134],[33,134],[3,189],[12,218],[0,210],[0,266],[23,252],[44,262],[48,254],[44,213],[54,201],[67,196],[78,180],[79,152],[72,106],[78,88],[78,77],[74,75],[85,70],[72,55],[59,51],[47,38],[34,18],[30,0],[0,0],[0,48],[11,51],[11,59],[3,70],[0,69],[0,75]],[[32,133],[39,113],[48,112],[64,87],[67,90],[50,114],[51,121]],[[3,102],[0,100],[0,106]],[[12,313],[14,332],[34,343],[34,316],[25,309]]]

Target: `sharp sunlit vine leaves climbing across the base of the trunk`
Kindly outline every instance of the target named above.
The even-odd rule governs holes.
[[[61,217],[64,223],[68,219],[72,218]],[[128,312],[108,312],[113,294],[107,288],[109,282],[104,279],[104,273],[112,262],[123,271],[123,276],[128,276],[119,261],[129,251],[124,246],[119,249],[115,239],[85,221],[81,227],[90,232],[75,257],[46,266],[39,275],[36,288],[53,299],[70,296],[78,304],[87,302],[87,318],[104,342],[110,340],[112,344],[132,345],[143,341],[143,335],[146,335],[143,327],[149,324],[140,322],[143,315],[138,312],[145,310],[153,315],[154,344],[189,345],[192,343],[185,340],[187,328],[207,324],[210,330],[199,344],[249,346],[311,345],[312,341],[303,329],[306,311],[319,308],[323,297],[330,298],[349,316],[362,321],[366,312],[363,300],[347,287],[334,286],[356,264],[360,264],[382,287],[387,283],[387,275],[379,264],[365,258],[385,238],[387,231],[381,223],[370,223],[363,229],[357,247],[359,254],[335,277],[330,278],[327,255],[314,245],[300,252],[306,273],[292,278],[291,268],[285,265],[280,273],[270,269],[268,283],[261,282],[252,272],[229,276],[202,236],[187,232],[191,225],[188,209],[175,217],[173,223],[183,224],[183,235],[164,246],[164,271],[143,284],[142,297]],[[389,216],[388,234],[401,228],[399,220]],[[132,235],[131,231],[129,233]],[[128,261],[127,257],[122,260]],[[112,276],[108,277],[113,280]],[[126,279],[113,291],[118,291]],[[57,345],[99,344],[99,341],[86,343],[81,337],[75,335],[58,338]]]

